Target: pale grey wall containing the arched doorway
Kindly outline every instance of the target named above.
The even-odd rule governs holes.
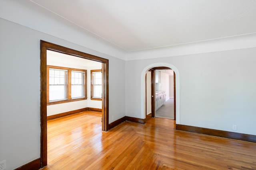
[[[234,132],[256,135],[255,54],[256,48],[248,48],[126,61],[126,115],[143,118],[144,68],[169,63],[180,73],[178,124],[224,131],[234,131],[232,125],[237,125]]]

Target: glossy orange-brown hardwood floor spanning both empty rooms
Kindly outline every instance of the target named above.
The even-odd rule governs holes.
[[[48,121],[43,170],[256,170],[256,143],[177,131],[166,118],[102,132],[92,113]]]

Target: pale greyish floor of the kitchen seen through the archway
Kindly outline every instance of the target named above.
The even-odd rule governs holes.
[[[156,117],[174,119],[174,99],[168,99],[163,106],[156,111]]]

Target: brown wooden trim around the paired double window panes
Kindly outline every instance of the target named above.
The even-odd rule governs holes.
[[[68,70],[68,88],[67,88],[68,99],[67,100],[49,102],[49,68]],[[82,97],[82,98],[74,98],[74,99],[71,98],[71,71],[85,72],[84,73],[84,97]],[[87,84],[87,70],[82,70],[82,69],[78,69],[78,68],[68,68],[68,67],[47,65],[47,105],[61,104],[61,103],[67,103],[67,102],[75,102],[75,101],[79,101],[79,100],[86,100],[87,99],[87,85],[86,84]]]

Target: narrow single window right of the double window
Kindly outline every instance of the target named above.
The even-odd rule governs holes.
[[[102,72],[91,70],[91,100],[102,100]]]

